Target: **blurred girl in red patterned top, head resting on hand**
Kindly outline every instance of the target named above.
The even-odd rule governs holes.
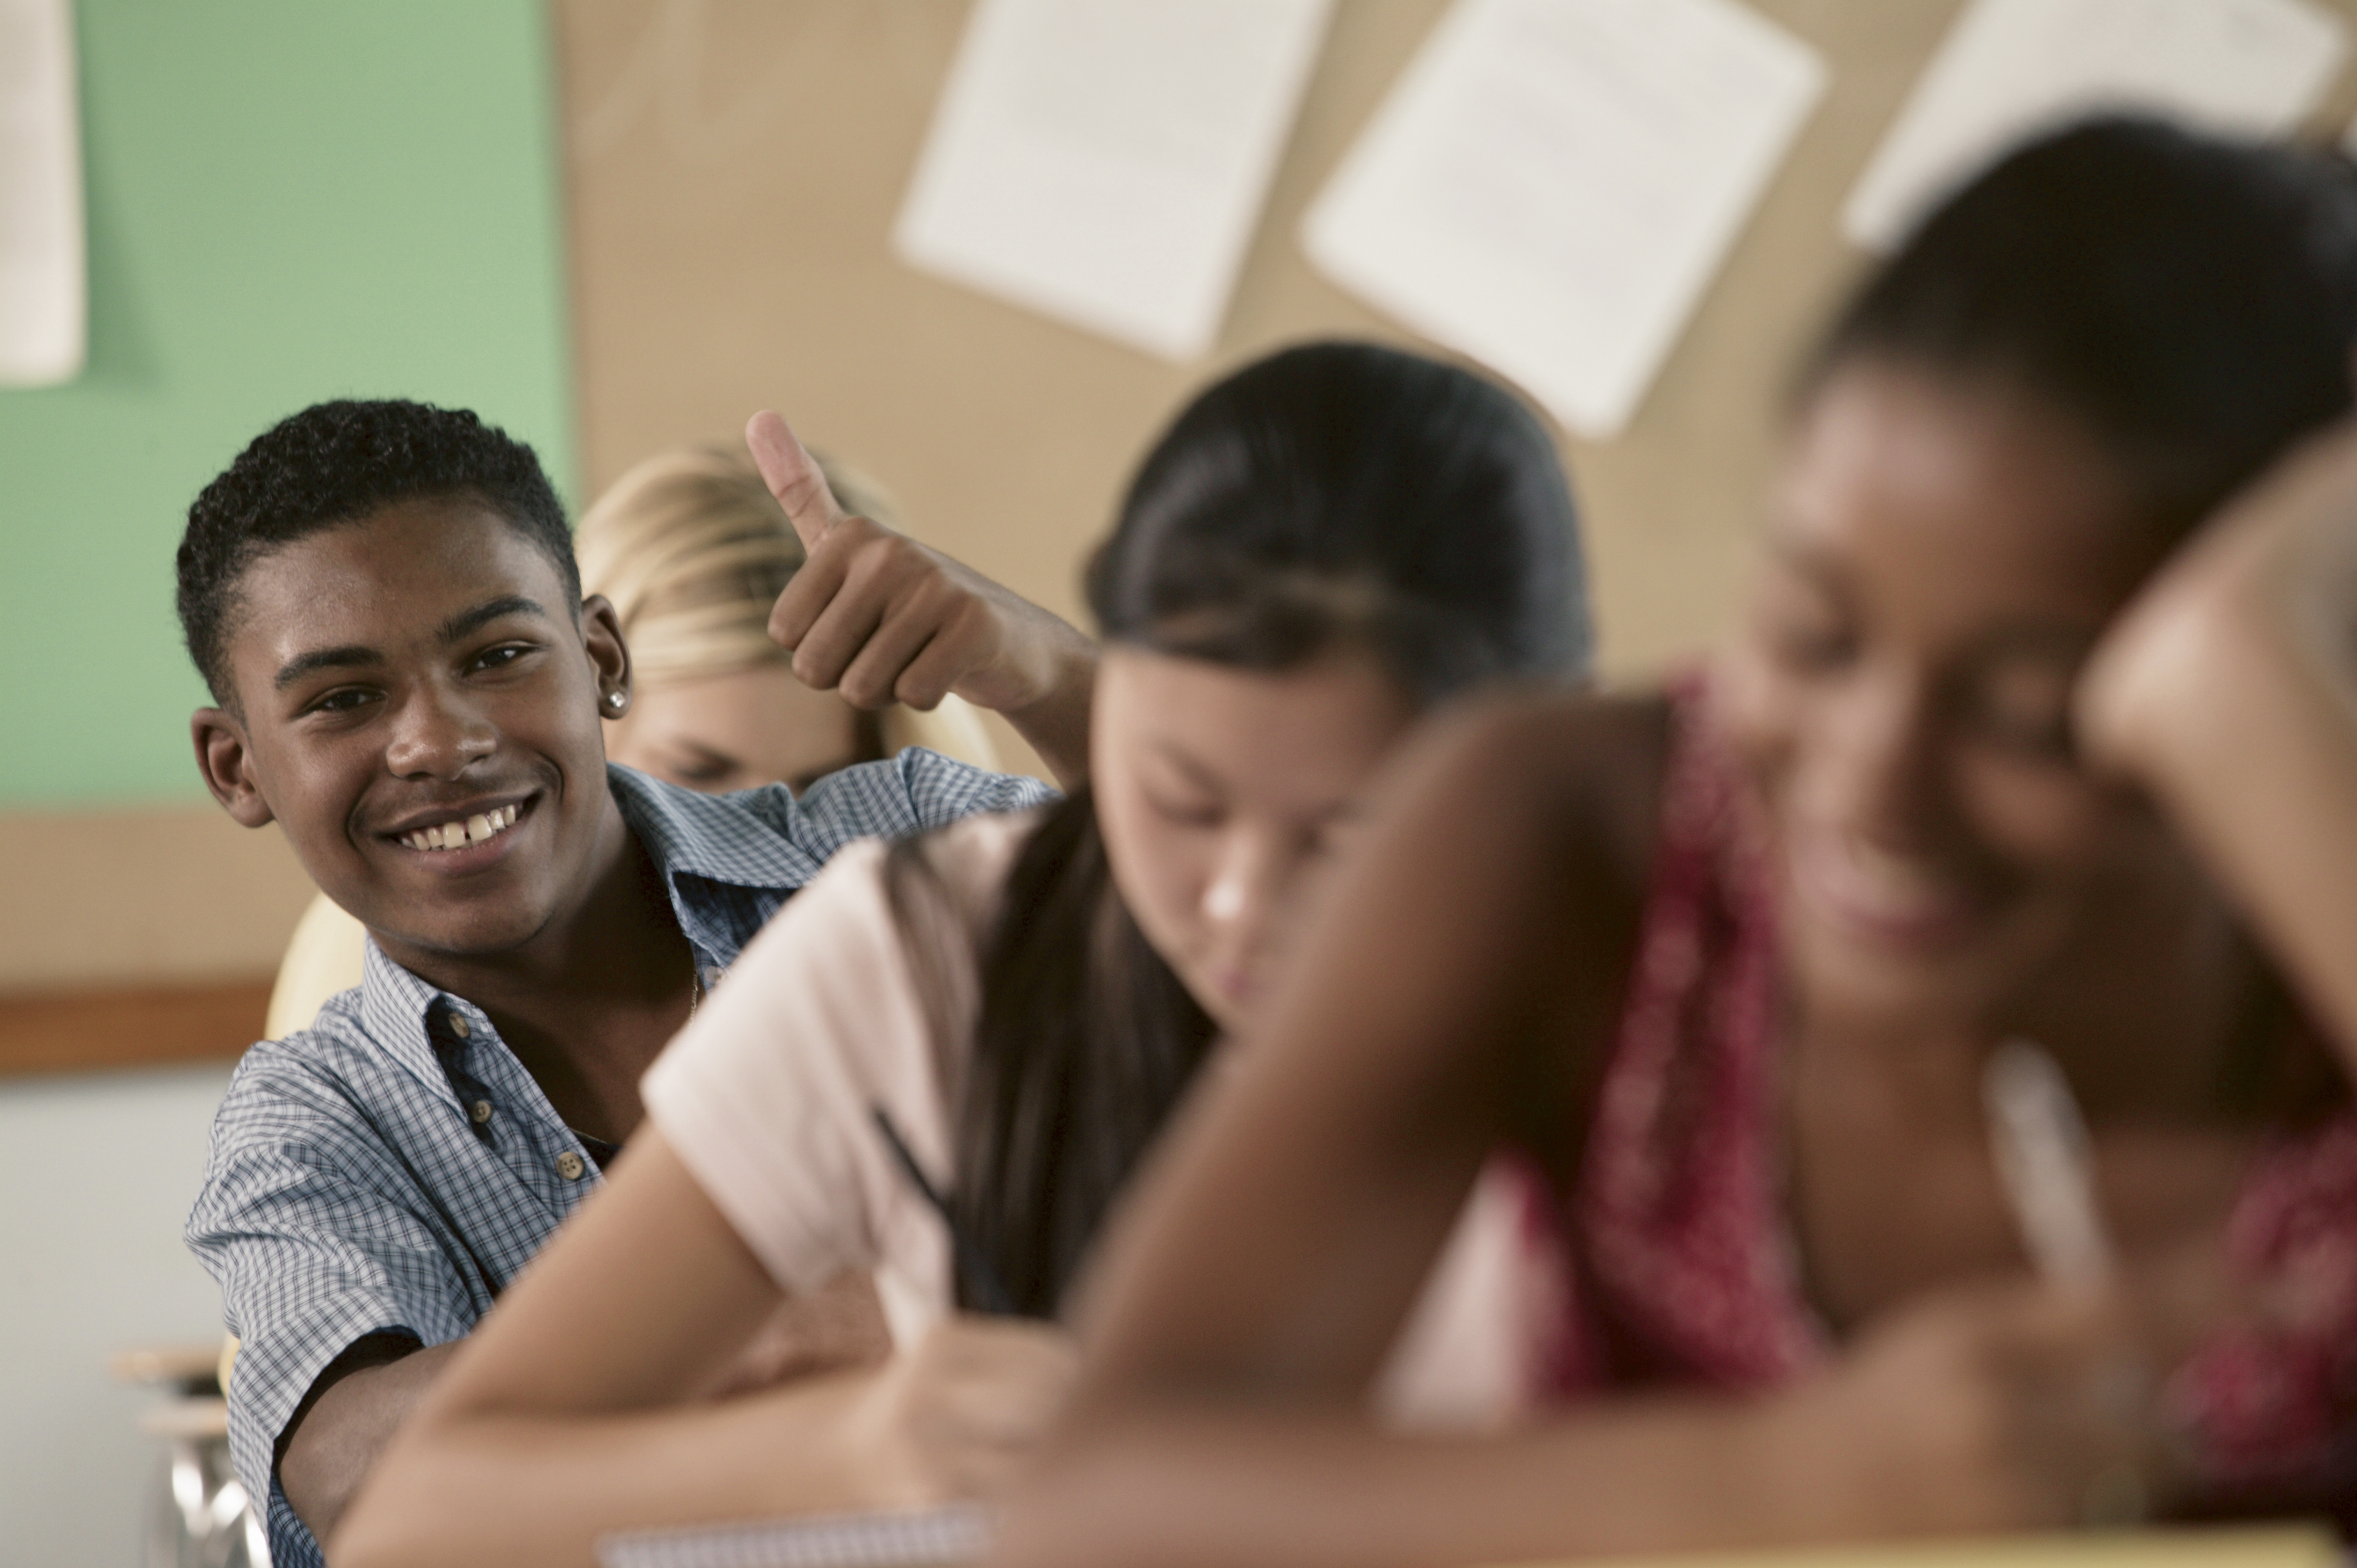
[[[1933,212],[1813,361],[1723,663],[1409,764],[1124,1212],[1002,1561],[2345,1507],[2357,431],[2204,519],[2348,417],[2352,344],[2338,160],[2105,120]],[[2025,1276],[2008,1037],[2084,1103],[2112,1285]],[[1353,1405],[1501,1144],[1574,1408],[1386,1441]]]

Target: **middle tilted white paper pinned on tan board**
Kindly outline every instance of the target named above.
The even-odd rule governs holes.
[[[1817,54],[1732,0],[1459,0],[1301,241],[1610,436],[1822,90]]]

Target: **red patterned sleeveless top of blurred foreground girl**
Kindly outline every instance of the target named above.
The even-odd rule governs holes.
[[[1558,1396],[1768,1389],[1834,1353],[1784,1212],[1775,898],[1699,681],[1673,693],[1636,971],[1567,1200]],[[2166,1398],[2220,1483],[2291,1481],[2357,1436],[2357,1111],[2267,1139],[2230,1219],[2253,1276],[2298,1278],[2303,1330],[2204,1344]]]

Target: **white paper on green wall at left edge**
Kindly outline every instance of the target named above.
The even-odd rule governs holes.
[[[71,0],[0,0],[0,387],[82,373],[82,130]]]

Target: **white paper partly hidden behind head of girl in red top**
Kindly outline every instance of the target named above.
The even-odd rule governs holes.
[[[2282,134],[2345,50],[2348,31],[2310,0],[1973,0],[1850,191],[1841,231],[1890,250],[2006,146],[2105,108]]]

